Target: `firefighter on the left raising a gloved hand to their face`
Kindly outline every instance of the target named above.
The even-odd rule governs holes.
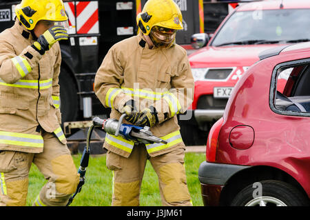
[[[61,130],[58,41],[68,39],[61,0],[23,0],[0,34],[0,206],[25,206],[32,163],[48,183],[34,206],[65,206],[76,172]]]

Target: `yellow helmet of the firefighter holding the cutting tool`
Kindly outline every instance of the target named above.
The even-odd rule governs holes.
[[[180,8],[173,0],[149,0],[136,17],[139,30],[148,35],[154,26],[182,30],[183,18]]]

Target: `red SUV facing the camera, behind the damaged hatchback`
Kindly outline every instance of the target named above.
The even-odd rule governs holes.
[[[207,46],[189,55],[195,91],[188,112],[192,111],[193,117],[180,120],[187,145],[205,144],[205,133],[223,116],[231,90],[245,70],[259,60],[258,54],[279,45],[309,41],[309,23],[309,1],[243,3],[231,12]],[[207,34],[194,35],[193,39],[196,46],[208,40]]]

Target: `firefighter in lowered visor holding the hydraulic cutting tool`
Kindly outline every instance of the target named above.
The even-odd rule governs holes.
[[[177,114],[190,106],[194,79],[187,52],[175,43],[182,14],[172,0],[149,0],[138,14],[139,33],[116,43],[96,73],[95,92],[111,118],[148,126],[167,143],[134,143],[107,134],[113,171],[112,206],[138,206],[147,160],[158,175],[164,206],[192,206],[185,176],[185,145]]]

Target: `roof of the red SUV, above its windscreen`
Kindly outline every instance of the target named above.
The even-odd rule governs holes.
[[[265,0],[242,4],[236,11],[276,10],[280,9],[281,3],[282,9],[310,8],[309,0]]]

